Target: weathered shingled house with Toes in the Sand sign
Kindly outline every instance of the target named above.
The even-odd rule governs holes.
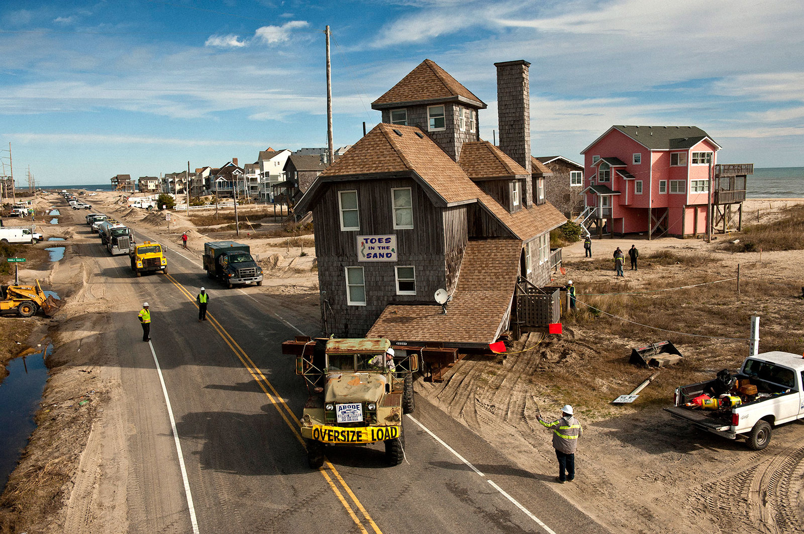
[[[371,104],[382,122],[297,205],[313,212],[325,332],[480,348],[522,322],[518,283],[549,283],[566,222],[534,195],[529,65],[495,63],[499,147],[478,137],[486,104],[429,59]]]

